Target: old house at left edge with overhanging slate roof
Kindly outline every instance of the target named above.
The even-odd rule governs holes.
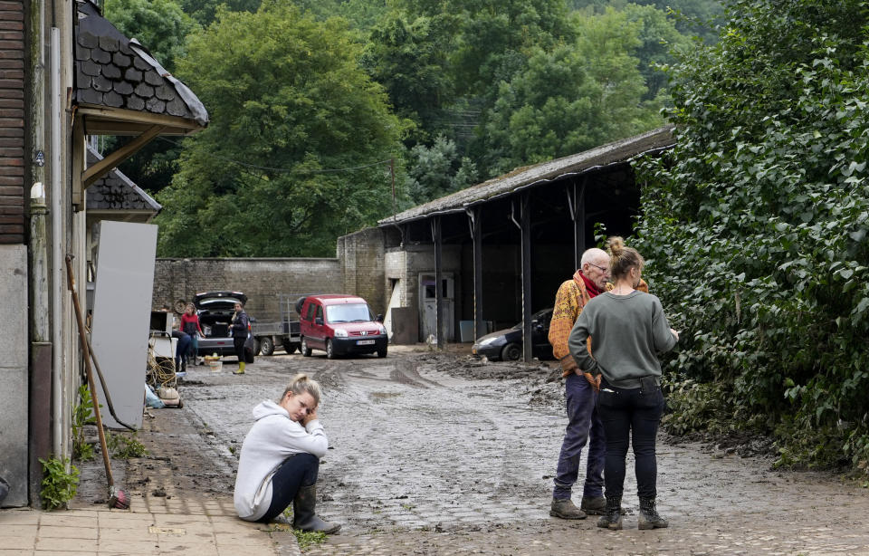
[[[65,261],[83,286],[93,268],[91,226],[100,219],[147,222],[159,208],[113,168],[158,135],[205,125],[196,95],[91,0],[0,0],[0,476],[11,484],[5,505],[38,504],[38,458],[71,453],[81,352]],[[93,135],[134,137],[89,160]]]

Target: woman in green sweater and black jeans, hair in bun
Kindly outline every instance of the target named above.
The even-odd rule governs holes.
[[[606,513],[598,527],[622,528],[625,455],[633,436],[640,529],[666,527],[655,509],[655,436],[664,412],[657,352],[673,349],[679,333],[670,328],[661,301],[636,291],[643,257],[621,237],[608,240],[613,287],[587,302],[570,332],[568,347],[586,378],[600,388],[597,408],[606,435]],[[591,353],[587,339],[591,337]]]

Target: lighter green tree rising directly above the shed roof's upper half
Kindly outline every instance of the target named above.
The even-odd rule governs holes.
[[[578,40],[537,49],[527,68],[501,81],[485,113],[482,160],[492,175],[591,149],[661,123],[647,103],[638,60],[641,23],[613,10],[578,21]]]

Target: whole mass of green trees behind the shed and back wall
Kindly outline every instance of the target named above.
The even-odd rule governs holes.
[[[700,16],[717,0],[683,4]],[[664,6],[624,0],[104,8],[211,117],[120,168],[164,206],[163,256],[330,254],[336,236],[412,203],[652,129],[668,103],[654,66],[690,43]]]

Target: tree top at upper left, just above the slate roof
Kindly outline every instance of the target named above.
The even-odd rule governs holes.
[[[185,39],[196,22],[176,0],[106,0],[103,14],[118,30],[136,38],[169,72],[185,53]]]

